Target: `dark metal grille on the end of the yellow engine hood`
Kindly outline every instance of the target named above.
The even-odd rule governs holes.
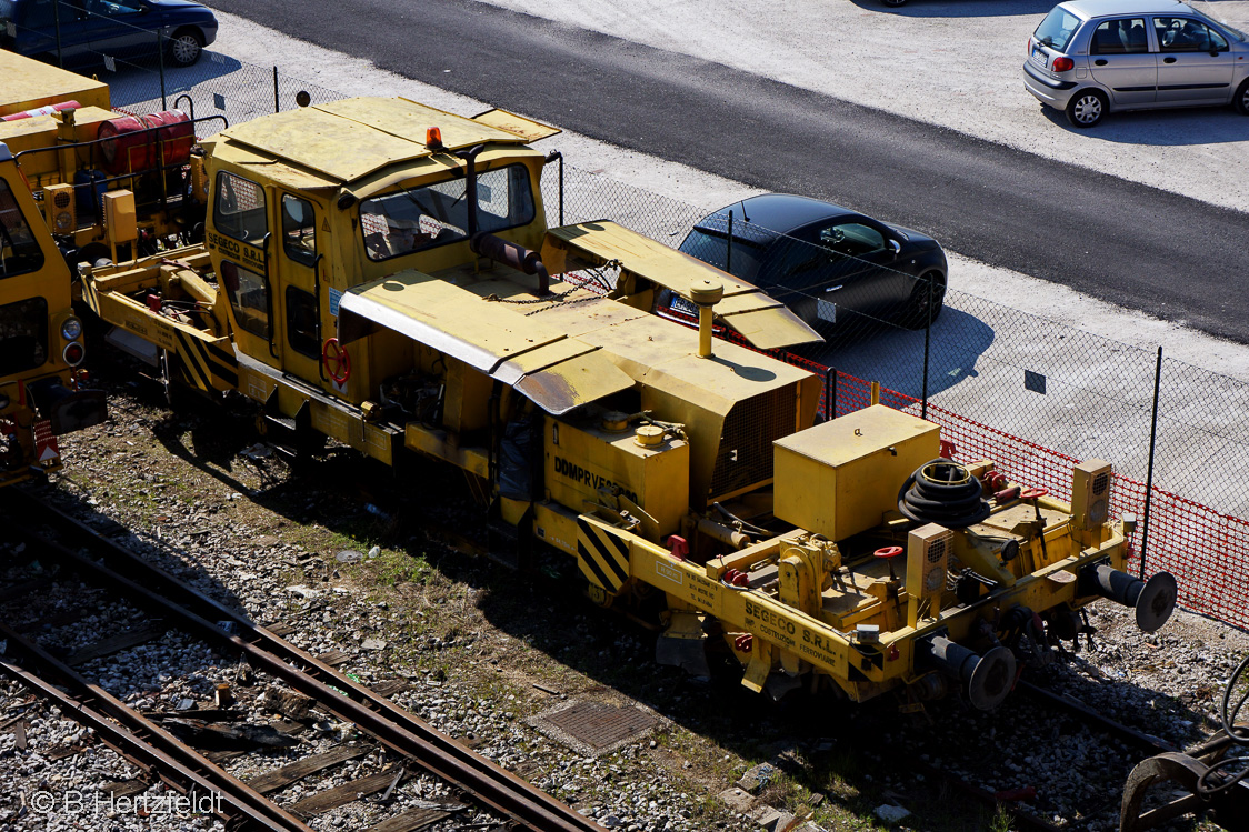
[[[728,411],[711,475],[713,500],[772,478],[772,442],[793,432],[796,391],[796,385],[786,385],[739,401]]]

